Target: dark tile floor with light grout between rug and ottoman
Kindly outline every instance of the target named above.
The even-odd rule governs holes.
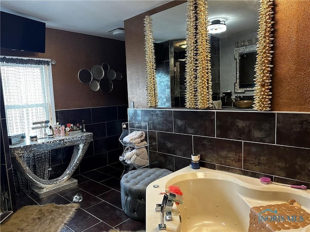
[[[81,193],[83,200],[71,221],[62,232],[104,232],[110,229],[145,230],[145,222],[135,221],[124,214],[121,205],[120,180],[123,170],[106,166],[74,176],[78,186],[63,190],[45,198],[17,196],[17,207],[46,203],[71,203],[73,196]]]

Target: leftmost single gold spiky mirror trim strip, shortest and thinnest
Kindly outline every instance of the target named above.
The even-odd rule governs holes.
[[[144,51],[146,60],[146,92],[147,106],[156,107],[158,105],[157,82],[156,82],[156,64],[154,50],[154,35],[152,27],[152,18],[146,15],[144,18]]]

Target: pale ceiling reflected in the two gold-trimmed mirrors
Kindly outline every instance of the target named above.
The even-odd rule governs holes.
[[[258,29],[258,0],[208,0],[208,19],[225,21],[222,38]],[[152,15],[155,43],[186,38],[186,3]],[[166,23],[169,22],[169,23]]]

